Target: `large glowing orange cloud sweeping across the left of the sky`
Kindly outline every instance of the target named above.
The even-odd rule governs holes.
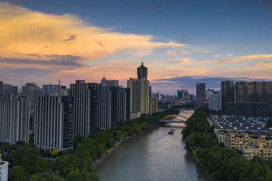
[[[29,59],[33,58],[29,54],[72,55],[81,57],[76,60],[80,62],[124,52],[143,56],[156,48],[185,46],[154,41],[152,35],[111,31],[90,26],[76,15],[48,15],[0,3],[0,54],[3,57],[18,58],[20,54],[21,59]]]

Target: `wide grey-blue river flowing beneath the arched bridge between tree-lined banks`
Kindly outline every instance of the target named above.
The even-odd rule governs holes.
[[[190,117],[190,113],[181,113]],[[124,142],[95,173],[107,180],[209,180],[184,149],[180,123],[168,123]],[[168,134],[174,129],[174,134]]]

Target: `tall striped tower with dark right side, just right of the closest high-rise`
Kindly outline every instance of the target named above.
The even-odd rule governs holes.
[[[88,136],[97,129],[98,83],[75,80],[70,84],[73,104],[73,134]]]

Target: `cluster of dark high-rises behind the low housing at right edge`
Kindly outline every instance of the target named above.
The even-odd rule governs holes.
[[[272,116],[271,81],[221,81],[222,114]]]

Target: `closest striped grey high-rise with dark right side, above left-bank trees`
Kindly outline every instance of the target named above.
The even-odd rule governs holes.
[[[34,143],[42,149],[73,148],[73,98],[43,95],[34,109]]]

